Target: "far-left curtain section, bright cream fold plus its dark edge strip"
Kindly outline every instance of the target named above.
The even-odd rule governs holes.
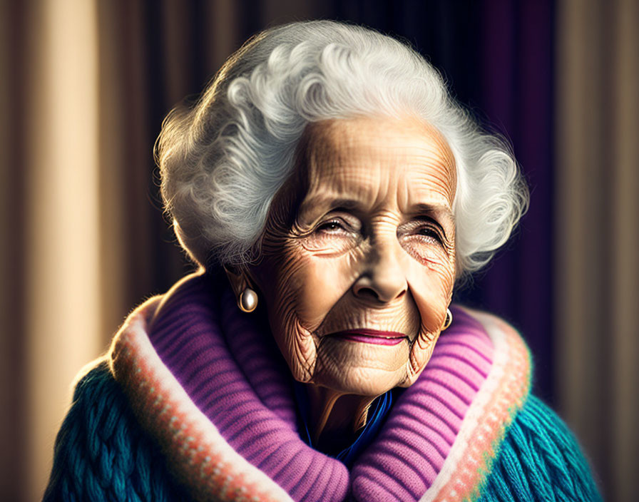
[[[53,7],[0,14],[4,500],[39,497],[69,379],[99,345],[95,19]]]

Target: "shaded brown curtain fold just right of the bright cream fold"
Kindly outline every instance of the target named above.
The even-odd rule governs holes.
[[[98,1],[98,138],[101,339],[106,346],[131,305],[149,294],[153,217],[148,186],[148,54],[139,1]]]

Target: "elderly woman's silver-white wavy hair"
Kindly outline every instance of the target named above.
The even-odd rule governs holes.
[[[200,265],[255,259],[307,124],[380,115],[418,116],[446,138],[457,170],[458,277],[485,265],[528,206],[508,143],[481,130],[411,48],[334,21],[263,31],[195,106],[165,119],[156,157],[180,244]]]

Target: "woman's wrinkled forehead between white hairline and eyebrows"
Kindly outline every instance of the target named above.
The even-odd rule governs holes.
[[[439,131],[421,121],[403,121],[399,128],[391,128],[388,142],[383,121],[341,119],[309,126],[310,183],[302,206],[351,200],[352,206],[358,201],[369,207],[390,203],[411,212],[415,203],[427,203],[441,205],[438,212],[451,216],[449,207],[443,206],[454,199],[454,158]],[[354,129],[372,139],[362,140]],[[404,132],[406,143],[402,143]],[[411,133],[419,140],[410,143]],[[403,175],[393,176],[399,169]]]

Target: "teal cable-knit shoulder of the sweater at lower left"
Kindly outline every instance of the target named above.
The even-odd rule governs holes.
[[[140,431],[106,360],[76,385],[56,438],[44,501],[188,500],[166,473],[158,445]]]

